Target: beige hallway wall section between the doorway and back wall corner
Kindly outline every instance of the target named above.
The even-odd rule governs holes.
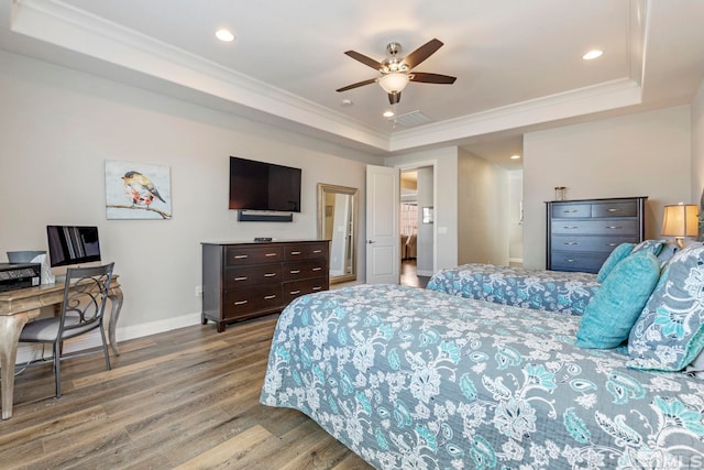
[[[508,172],[470,152],[458,160],[458,261],[508,265]]]

